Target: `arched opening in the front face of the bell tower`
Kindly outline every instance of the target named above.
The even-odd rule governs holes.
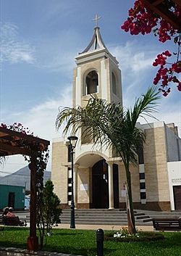
[[[90,71],[85,79],[86,94],[95,94],[98,92],[98,73],[96,70]]]

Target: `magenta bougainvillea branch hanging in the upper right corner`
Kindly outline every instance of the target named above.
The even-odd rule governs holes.
[[[167,0],[169,11],[178,17],[181,21],[181,9],[171,1]],[[180,60],[180,44],[181,34],[180,31],[174,29],[167,20],[164,20],[151,9],[145,6],[143,0],[136,0],[134,7],[128,11],[129,17],[121,26],[125,32],[130,31],[131,35],[138,35],[139,33],[145,35],[153,32],[155,36],[159,37],[159,41],[164,43],[167,40],[173,39],[174,44],[177,44],[177,53],[170,53],[170,51],[164,51],[158,54],[153,67],[160,65],[160,68],[153,79],[153,84],[160,83],[159,90],[162,91],[164,96],[167,96],[171,91],[168,84],[170,82],[177,84],[178,91],[181,91],[181,82],[177,78],[177,74],[181,73],[181,60]],[[167,62],[168,57],[176,56],[175,61],[172,63]],[[166,67],[167,65],[167,67]]]

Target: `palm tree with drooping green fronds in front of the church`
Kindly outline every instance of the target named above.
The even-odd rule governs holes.
[[[72,129],[77,133],[83,128],[87,138],[94,138],[94,144],[112,146],[122,157],[127,178],[127,225],[129,234],[135,234],[135,218],[132,207],[132,191],[130,163],[138,163],[138,151],[143,148],[145,135],[136,127],[138,117],[152,116],[156,112],[159,92],[156,88],[148,88],[146,94],[140,96],[133,109],[123,110],[120,104],[108,103],[91,95],[85,107],[65,107],[56,118],[56,128],[65,122],[64,134]]]

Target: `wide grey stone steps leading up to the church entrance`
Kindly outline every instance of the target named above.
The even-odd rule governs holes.
[[[26,212],[27,213],[27,212]],[[152,226],[152,218],[179,218],[181,211],[156,212],[151,210],[134,210],[136,226]],[[17,214],[21,217],[20,212]],[[23,213],[23,218],[25,213]],[[62,210],[62,224],[70,224],[70,209]],[[30,215],[26,214],[27,222]],[[125,209],[75,209],[75,224],[127,226]]]

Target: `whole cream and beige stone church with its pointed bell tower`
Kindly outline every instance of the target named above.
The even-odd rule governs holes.
[[[96,24],[90,44],[75,57],[72,107],[84,107],[90,94],[122,104],[122,74]],[[181,210],[181,139],[174,123],[138,123],[146,134],[138,165],[130,165],[135,209]],[[109,148],[93,146],[83,131],[74,159],[74,199],[77,208],[125,208],[125,168]],[[53,139],[51,179],[61,207],[72,197],[70,145]]]

